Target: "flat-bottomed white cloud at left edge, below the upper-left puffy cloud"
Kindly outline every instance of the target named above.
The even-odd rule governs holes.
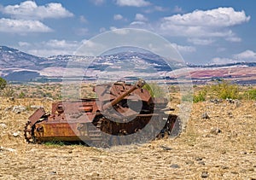
[[[38,20],[11,20],[2,18],[0,19],[0,32],[52,32],[52,30]]]

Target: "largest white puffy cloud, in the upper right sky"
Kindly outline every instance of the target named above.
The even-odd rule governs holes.
[[[172,15],[160,20],[160,32],[184,37],[236,37],[230,26],[250,20],[245,12],[233,8],[195,10],[184,15]]]

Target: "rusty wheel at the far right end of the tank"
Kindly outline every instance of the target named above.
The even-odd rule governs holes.
[[[183,127],[181,119],[177,115],[170,115],[168,122],[169,127],[167,127],[167,133],[170,137],[177,137],[181,134]]]

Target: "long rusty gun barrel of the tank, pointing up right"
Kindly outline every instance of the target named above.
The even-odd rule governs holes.
[[[113,107],[114,105],[116,105],[117,103],[119,103],[122,99],[125,98],[125,96],[128,96],[131,92],[133,92],[134,90],[137,90],[139,88],[143,88],[144,84],[146,84],[145,80],[143,80],[142,78],[137,80],[137,83],[134,84],[130,90],[125,91],[124,94],[117,96],[115,99],[113,99],[112,102],[108,102],[107,104],[105,104],[103,106],[103,110],[108,110],[110,107]]]

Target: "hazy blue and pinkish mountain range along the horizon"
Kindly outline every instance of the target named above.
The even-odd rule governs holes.
[[[90,62],[84,73],[78,73],[83,69],[80,63]],[[73,66],[73,65],[76,66]],[[222,65],[192,65],[172,61],[172,64],[159,55],[141,52],[123,52],[114,55],[103,55],[99,57],[78,55],[55,55],[48,58],[26,54],[19,49],[0,46],[0,76],[12,82],[49,82],[61,81],[63,73],[72,72],[71,76],[83,76],[83,78],[136,78],[136,77],[160,77],[172,79],[172,72],[176,76],[183,76],[178,70],[186,69],[192,75],[192,79],[210,78],[232,78],[237,68],[253,68],[251,75],[254,77],[256,62],[236,62]],[[230,71],[232,68],[233,71]],[[220,71],[220,69],[222,69]],[[228,69],[228,72],[224,72]],[[204,72],[204,73],[203,73]],[[211,72],[211,73],[209,73]],[[235,71],[236,72],[236,71]],[[246,72],[245,72],[246,73]],[[241,76],[246,74],[239,73]],[[237,75],[238,78],[240,75]],[[256,73],[255,73],[256,77]]]

